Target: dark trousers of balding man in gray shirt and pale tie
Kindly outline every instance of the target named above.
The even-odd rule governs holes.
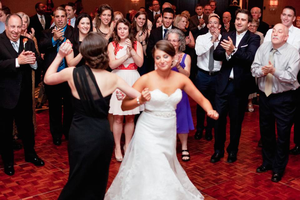
[[[262,138],[263,165],[282,173],[287,165],[291,128],[296,111],[296,92],[293,90],[270,94],[259,91],[259,127]],[[275,133],[277,128],[277,141]]]

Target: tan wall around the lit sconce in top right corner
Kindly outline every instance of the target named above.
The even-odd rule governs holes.
[[[299,0],[278,0],[278,8],[276,11],[270,11],[269,0],[263,0],[263,6],[265,6],[266,9],[263,11],[262,21],[267,22],[270,26],[281,22],[280,14],[285,6],[294,7],[296,9],[296,15],[300,16]]]

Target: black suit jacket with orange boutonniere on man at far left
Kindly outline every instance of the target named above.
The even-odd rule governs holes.
[[[16,68],[16,58],[24,50],[24,38],[28,39],[25,43],[25,51],[34,52],[37,58],[38,54],[32,39],[21,35],[19,51],[17,53],[6,36],[5,31],[0,34],[0,108],[15,108],[21,89],[27,90],[28,97],[31,97],[33,69],[29,64],[22,64]],[[39,58],[37,58],[38,61]]]

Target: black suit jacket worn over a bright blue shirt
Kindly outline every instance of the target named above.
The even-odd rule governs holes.
[[[40,42],[38,43],[38,49],[40,51],[40,53],[45,53],[44,56],[44,71],[43,71],[43,75],[45,75],[48,67],[50,66],[50,64],[53,62],[53,59],[56,57],[57,55],[57,44],[55,46],[53,46],[52,44],[52,37],[53,37],[53,30],[54,27],[44,30],[42,32],[42,37]],[[67,25],[66,31],[64,33],[64,37],[66,39],[70,39],[73,37],[73,27]],[[65,65],[67,66],[67,62],[65,60]]]

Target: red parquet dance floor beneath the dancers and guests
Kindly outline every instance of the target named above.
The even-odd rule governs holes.
[[[191,101],[194,122],[195,102]],[[279,183],[271,181],[272,172],[256,173],[262,163],[259,139],[258,107],[246,113],[235,163],[227,163],[227,154],[218,163],[210,163],[214,141],[194,140],[194,131],[188,138],[190,162],[181,161],[181,146],[178,140],[178,159],[192,183],[202,192],[205,199],[300,199],[300,155],[290,159]],[[49,132],[48,110],[37,114],[36,152],[45,161],[45,166],[36,167],[24,160],[23,150],[15,151],[15,175],[3,172],[0,159],[0,200],[57,199],[68,180],[67,141],[61,146],[52,144]],[[229,131],[229,125],[227,127]],[[293,132],[291,134],[291,148]],[[227,135],[227,144],[229,137]],[[122,137],[124,143],[124,137]],[[111,161],[108,186],[118,172],[120,163]]]

